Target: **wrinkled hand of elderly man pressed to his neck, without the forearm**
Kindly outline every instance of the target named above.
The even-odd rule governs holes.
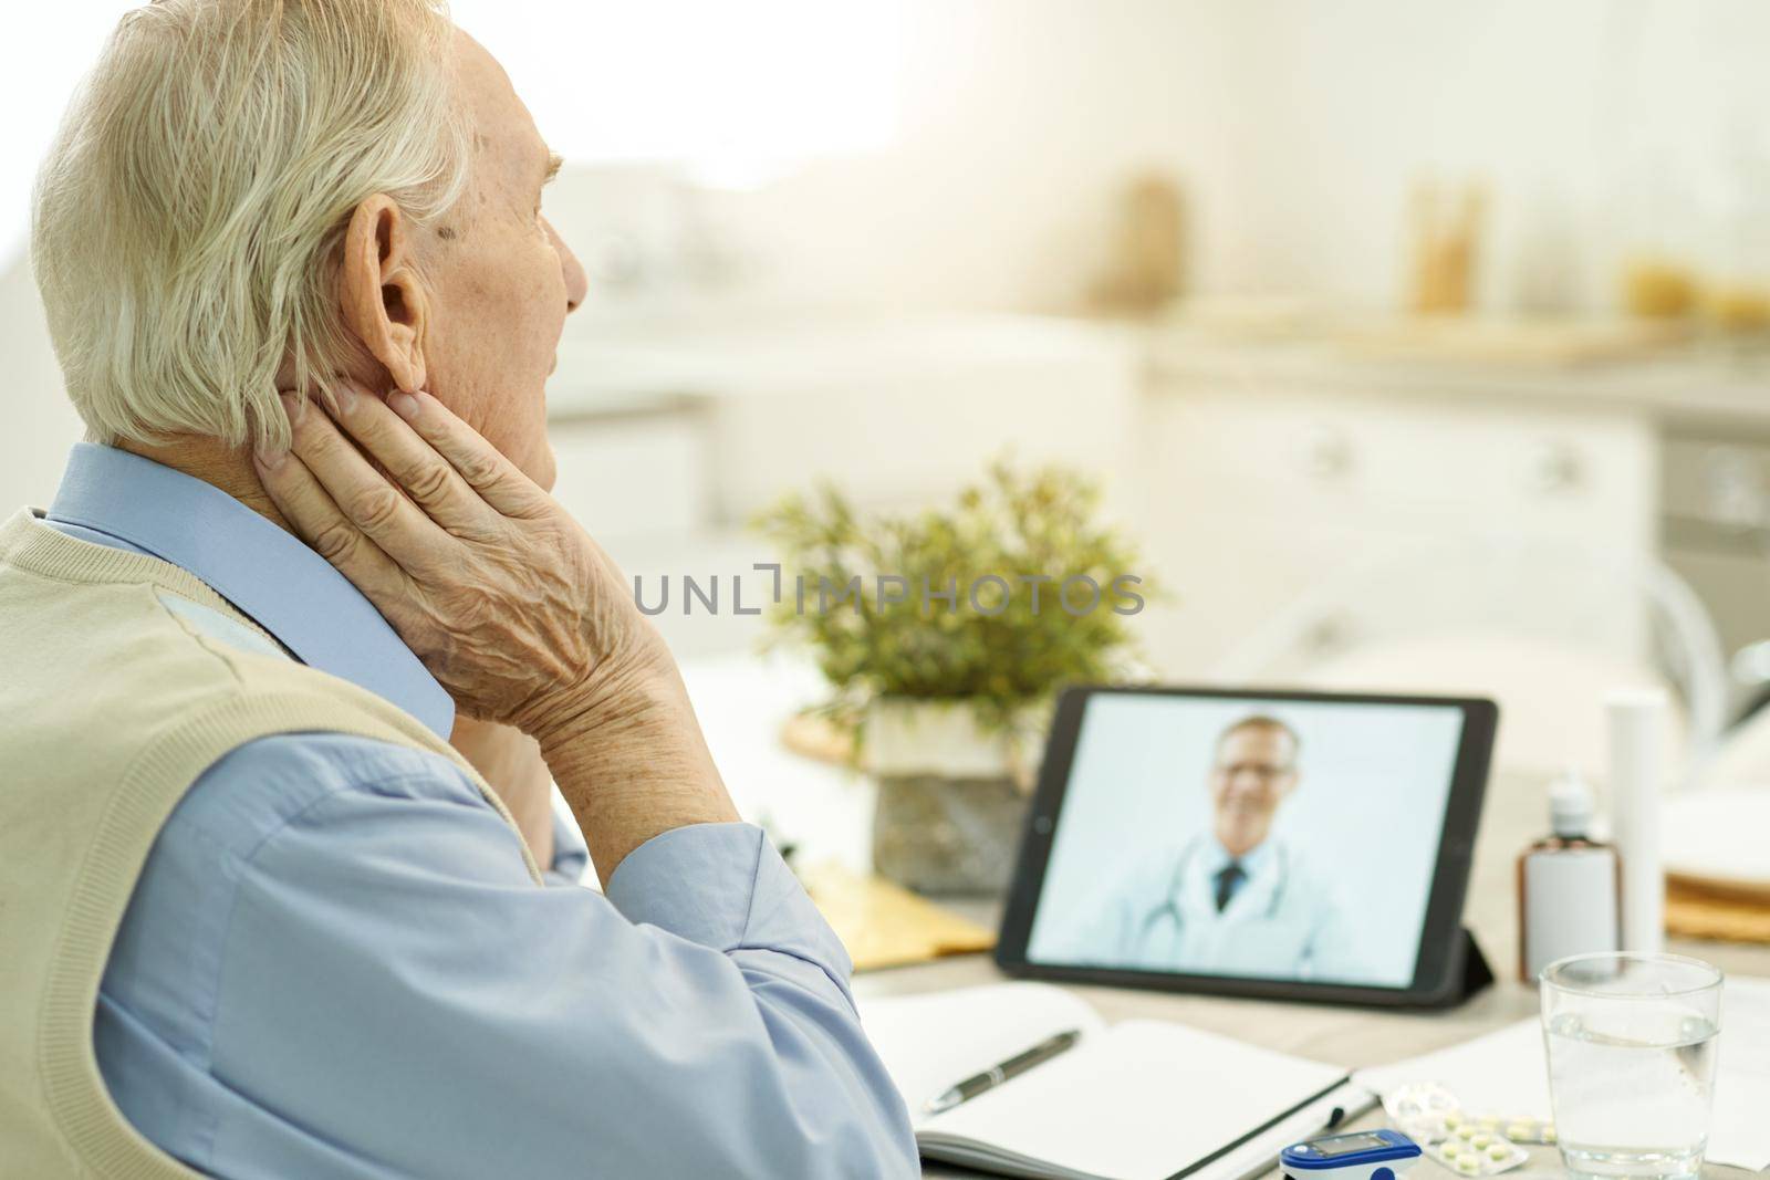
[[[294,446],[255,456],[258,479],[464,713],[538,734],[600,669],[651,649],[614,563],[441,402],[336,396],[336,423],[283,396]]]

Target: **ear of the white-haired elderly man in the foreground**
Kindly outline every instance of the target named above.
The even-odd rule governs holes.
[[[425,387],[428,303],[412,265],[405,214],[384,193],[350,214],[338,271],[343,320],[405,393]]]

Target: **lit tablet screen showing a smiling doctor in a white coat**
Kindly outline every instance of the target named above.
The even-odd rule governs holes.
[[[1453,704],[1089,695],[1027,959],[1409,987]]]

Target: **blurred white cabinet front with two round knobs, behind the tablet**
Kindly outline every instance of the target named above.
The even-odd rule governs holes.
[[[1158,372],[1140,525],[1177,601],[1149,623],[1152,655],[1209,676],[1335,582],[1345,601],[1308,640],[1322,658],[1439,626],[1637,653],[1643,609],[1611,571],[1653,556],[1655,446],[1628,409]]]

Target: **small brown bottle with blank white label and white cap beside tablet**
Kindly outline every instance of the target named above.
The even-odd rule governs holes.
[[[1554,835],[1519,856],[1519,978],[1566,955],[1618,950],[1616,849],[1591,839],[1591,787],[1568,773],[1549,787]]]

